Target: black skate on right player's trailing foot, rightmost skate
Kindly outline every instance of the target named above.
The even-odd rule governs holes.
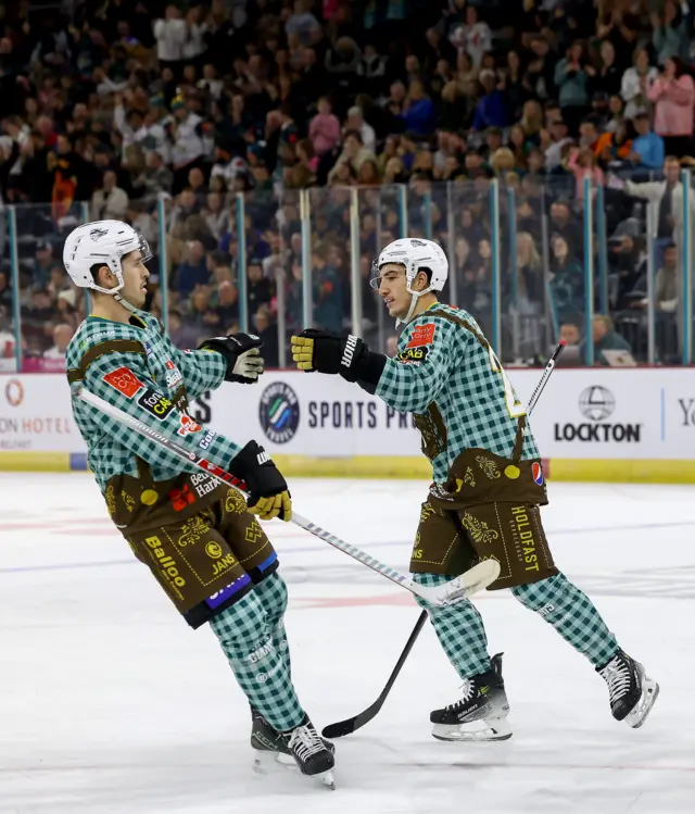
[[[614,718],[624,721],[633,729],[641,727],[659,694],[659,685],[647,676],[640,662],[622,650],[596,672],[608,685]]]

